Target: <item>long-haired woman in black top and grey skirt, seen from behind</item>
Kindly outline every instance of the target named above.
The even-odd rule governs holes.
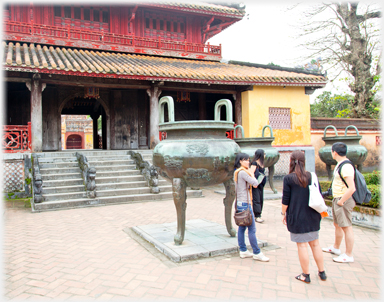
[[[283,180],[282,221],[291,233],[291,240],[296,242],[302,274],[295,278],[306,283],[309,277],[308,244],[318,267],[318,275],[325,281],[324,260],[319,245],[321,215],[310,208],[309,188],[311,173],[305,171],[305,156],[301,151],[293,151],[290,157],[289,174]],[[320,188],[320,185],[319,185]]]

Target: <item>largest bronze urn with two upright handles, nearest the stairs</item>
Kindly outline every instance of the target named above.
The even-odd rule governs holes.
[[[165,104],[168,106],[168,122],[164,121]],[[226,107],[226,121],[220,120],[222,106]],[[231,213],[235,199],[234,163],[240,148],[225,134],[234,130],[231,101],[222,99],[216,102],[213,121],[175,122],[174,102],[170,96],[162,97],[159,107],[159,130],[167,132],[167,139],[155,147],[153,164],[162,177],[172,182],[177,212],[175,244],[180,245],[184,240],[187,186],[198,188],[224,184],[225,224],[229,235],[236,236]]]

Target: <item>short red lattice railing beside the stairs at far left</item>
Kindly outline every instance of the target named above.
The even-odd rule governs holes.
[[[4,125],[3,145],[4,153],[31,151],[32,135],[31,123],[28,125]]]

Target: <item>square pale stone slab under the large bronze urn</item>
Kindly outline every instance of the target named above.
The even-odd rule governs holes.
[[[181,245],[175,245],[173,241],[176,228],[176,222],[171,222],[136,226],[132,227],[132,230],[174,262],[233,254],[239,251],[237,237],[230,237],[226,227],[216,222],[206,219],[188,220]],[[260,248],[268,245],[266,241],[259,239],[257,242]],[[248,236],[245,236],[245,243],[250,249]]]

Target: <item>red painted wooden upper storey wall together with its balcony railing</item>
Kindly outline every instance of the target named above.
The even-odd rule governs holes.
[[[140,5],[5,5],[3,40],[219,61],[221,46],[202,35],[208,17]]]

